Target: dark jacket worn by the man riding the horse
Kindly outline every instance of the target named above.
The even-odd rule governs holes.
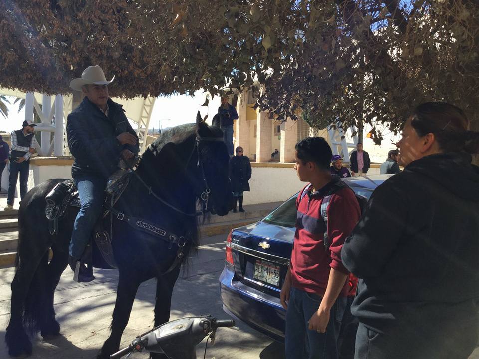
[[[106,117],[98,106],[85,97],[68,115],[68,146],[75,157],[71,168],[73,177],[96,174],[107,179],[117,169],[122,150],[128,149],[138,154],[138,142],[136,146],[120,145],[116,139],[122,132],[130,132],[136,137],[122,106],[108,99],[108,107]]]

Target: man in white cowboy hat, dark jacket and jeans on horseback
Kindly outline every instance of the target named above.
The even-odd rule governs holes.
[[[114,79],[114,77],[113,77]],[[117,169],[120,158],[138,154],[138,137],[122,106],[109,98],[108,84],[99,66],[89,66],[70,87],[85,95],[82,103],[68,115],[68,146],[75,161],[71,175],[80,195],[81,208],[75,219],[70,242],[70,266],[79,268],[79,282],[95,277],[79,266],[80,260],[103,205],[108,177]]]

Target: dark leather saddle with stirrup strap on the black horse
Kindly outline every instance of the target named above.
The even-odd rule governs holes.
[[[105,188],[103,213],[98,218],[81,262],[96,268],[117,268],[113,257],[112,218],[110,208],[118,201],[130,182],[132,172],[121,169],[110,176]],[[58,221],[70,207],[80,208],[80,197],[73,179],[58,183],[45,197],[45,215],[50,223],[50,234],[58,233]]]

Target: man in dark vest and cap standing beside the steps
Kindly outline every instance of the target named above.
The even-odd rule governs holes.
[[[10,149],[10,176],[8,178],[8,198],[3,210],[12,210],[15,202],[16,183],[20,175],[20,198],[28,192],[28,175],[30,173],[30,157],[35,151],[40,152],[40,145],[36,141],[35,124],[23,121],[20,130],[11,133]]]

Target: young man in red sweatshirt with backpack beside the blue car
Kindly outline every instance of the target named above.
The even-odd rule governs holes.
[[[309,184],[296,200],[291,265],[281,289],[287,359],[337,359],[349,272],[341,248],[360,217],[354,192],[329,171],[331,148],[322,137],[296,144],[298,177]],[[321,210],[325,211],[324,221]]]

